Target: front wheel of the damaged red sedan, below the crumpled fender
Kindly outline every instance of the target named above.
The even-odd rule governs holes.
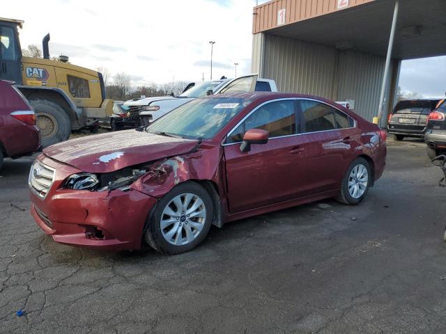
[[[187,202],[187,198],[189,201]],[[198,199],[201,199],[199,202]],[[178,202],[180,200],[180,202]],[[187,204],[187,210],[180,212],[174,201]],[[200,204],[201,203],[201,204]],[[196,205],[197,208],[194,209]],[[203,209],[205,210],[203,212]],[[177,214],[178,213],[178,214]],[[213,201],[208,191],[195,182],[179,184],[157,203],[148,228],[144,233],[146,243],[160,253],[180,254],[198,246],[206,238],[213,220]],[[167,223],[161,226],[162,221]],[[179,232],[178,232],[179,229]],[[189,232],[187,232],[189,231]],[[192,234],[190,234],[192,232]],[[190,240],[187,240],[187,237]],[[178,244],[175,244],[178,243]]]

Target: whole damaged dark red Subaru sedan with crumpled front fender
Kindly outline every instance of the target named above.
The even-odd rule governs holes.
[[[385,156],[385,132],[334,102],[216,95],[144,129],[45,148],[29,175],[31,212],[62,244],[182,253],[210,225],[323,198],[355,205]]]

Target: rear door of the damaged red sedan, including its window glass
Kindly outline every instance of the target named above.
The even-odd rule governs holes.
[[[315,100],[299,100],[305,152],[305,177],[302,195],[339,189],[348,164],[355,157],[360,130],[355,120],[329,104]],[[304,174],[302,174],[304,175]]]

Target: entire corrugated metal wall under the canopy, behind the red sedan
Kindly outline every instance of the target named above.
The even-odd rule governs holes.
[[[376,116],[385,58],[263,33],[254,34],[253,45],[253,72],[274,79],[280,91],[355,100],[355,113],[369,121]],[[387,84],[383,126],[388,106],[392,108],[391,88]]]

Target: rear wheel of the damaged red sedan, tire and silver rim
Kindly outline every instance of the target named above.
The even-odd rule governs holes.
[[[361,182],[360,180],[364,180],[363,178],[360,178],[359,181],[356,183],[356,185],[359,187],[357,191],[359,191],[359,193],[357,193],[356,195],[353,193],[351,193],[351,191],[355,189],[355,180],[351,179],[353,170],[358,167],[358,170],[361,170],[362,167],[365,168],[365,170],[367,170],[367,182]],[[353,173],[354,174],[354,173]],[[347,172],[344,175],[344,177],[342,178],[342,182],[341,182],[341,189],[339,191],[339,196],[336,198],[336,200],[338,202],[341,202],[343,204],[346,205],[356,205],[358,203],[360,203],[365,196],[367,196],[367,193],[369,192],[369,188],[370,188],[370,184],[371,184],[371,180],[372,180],[373,175],[371,175],[371,168],[369,163],[367,162],[366,159],[364,158],[357,158],[355,159],[350,166],[348,166]],[[353,182],[353,183],[352,183]],[[365,183],[365,184],[364,184]],[[349,186],[350,184],[350,186]],[[361,184],[365,187],[364,189],[361,187]],[[349,189],[350,187],[352,187],[351,189]]]

